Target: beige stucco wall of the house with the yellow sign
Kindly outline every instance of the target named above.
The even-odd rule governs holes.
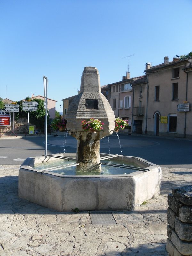
[[[187,117],[187,129],[186,134],[192,136],[192,112],[177,112],[177,105],[182,104],[186,100],[186,73],[182,70],[184,66],[180,66],[180,77],[172,79],[172,69],[166,69],[149,74],[149,107],[148,107],[148,119],[147,119],[147,130],[148,134],[154,135],[154,113],[159,111],[161,116],[168,116],[169,114],[177,115],[177,131],[176,133],[168,132],[168,124],[159,122],[159,135],[183,137],[185,127],[185,115]],[[188,103],[191,102],[192,89],[191,81],[192,77],[189,73],[190,79],[188,78]],[[172,84],[178,83],[178,100],[172,100]],[[160,86],[159,101],[155,102],[155,86]],[[169,121],[168,121],[169,122]]]

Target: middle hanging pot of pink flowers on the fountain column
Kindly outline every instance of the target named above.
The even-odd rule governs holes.
[[[96,133],[97,131],[103,130],[103,125],[99,119],[86,119],[81,121],[81,125],[84,131],[89,133]]]

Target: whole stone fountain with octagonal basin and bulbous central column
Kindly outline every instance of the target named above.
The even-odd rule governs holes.
[[[84,119],[100,119],[103,130],[92,134],[82,129]],[[77,139],[77,151],[70,154],[54,154],[27,158],[19,171],[19,197],[30,202],[71,212],[84,210],[134,210],[140,204],[159,196],[161,168],[139,157],[100,153],[100,139],[113,133],[114,113],[102,95],[97,68],[85,67],[80,93],[71,102],[67,112],[68,132]],[[122,161],[124,165],[103,163],[107,158]],[[73,161],[62,168],[76,166],[80,175],[63,175],[57,161]],[[74,163],[75,162],[75,163]],[[38,163],[55,163],[53,168],[38,169]],[[122,174],[100,175],[102,164],[110,168],[130,169]],[[98,172],[92,172],[97,169]],[[87,170],[91,170],[86,175]],[[93,175],[94,173],[94,175]]]

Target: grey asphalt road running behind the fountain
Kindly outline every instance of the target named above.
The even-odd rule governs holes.
[[[161,167],[192,168],[192,140],[135,136],[118,133],[100,141],[100,152],[138,156]],[[27,157],[44,154],[44,136],[0,139],[0,164],[21,164]],[[47,138],[47,153],[76,152],[76,139],[60,134]]]

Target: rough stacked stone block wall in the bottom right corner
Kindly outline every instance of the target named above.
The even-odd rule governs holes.
[[[168,205],[168,255],[192,256],[192,186],[172,189]]]

